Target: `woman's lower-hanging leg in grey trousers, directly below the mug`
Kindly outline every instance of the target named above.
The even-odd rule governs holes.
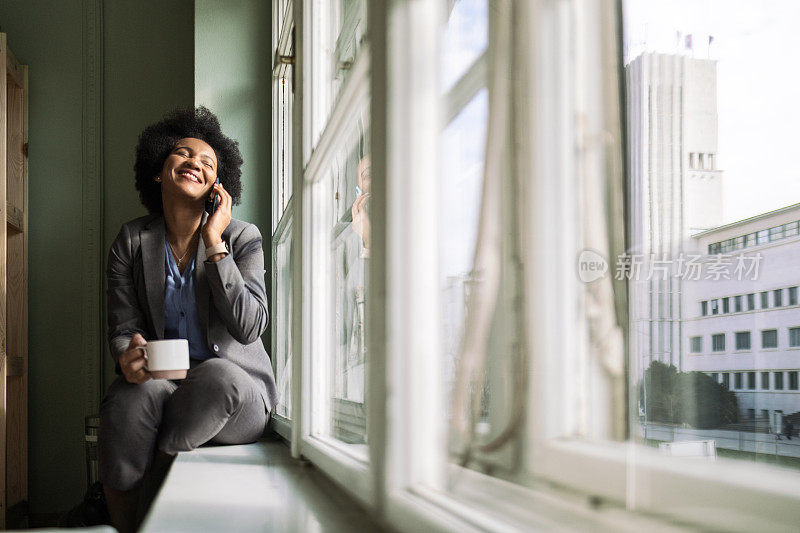
[[[100,405],[98,463],[111,521],[133,531],[139,486],[155,450],[164,402],[177,386],[167,380],[135,385],[118,377]]]

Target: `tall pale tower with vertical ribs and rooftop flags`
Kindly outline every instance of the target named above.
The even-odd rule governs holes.
[[[716,61],[645,53],[626,66],[631,253],[674,260],[692,235],[722,221]],[[682,280],[632,279],[631,349],[683,366]]]

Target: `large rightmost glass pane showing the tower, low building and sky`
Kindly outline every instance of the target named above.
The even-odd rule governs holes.
[[[800,311],[789,307],[795,293],[784,291],[797,284],[800,244],[786,237],[797,235],[800,182],[789,177],[794,165],[758,157],[767,151],[752,142],[773,139],[769,153],[793,150],[787,124],[800,120],[800,108],[789,102],[800,78],[767,51],[798,44],[800,4],[622,5],[628,185],[647,191],[628,205],[631,233],[645,236],[629,247],[670,251],[675,268],[668,279],[630,284],[638,317],[632,367],[640,369],[631,433],[654,447],[707,441],[716,456],[800,469],[796,441],[785,438],[800,419],[800,393],[789,388],[789,373],[800,369],[790,333]],[[701,154],[695,168],[692,154]],[[763,179],[753,180],[756,173]],[[698,256],[696,276],[681,270],[698,251],[728,255]],[[724,299],[716,312],[725,297],[734,298],[735,314]],[[712,302],[705,316],[703,301]],[[718,353],[689,357],[695,337],[710,338]]]

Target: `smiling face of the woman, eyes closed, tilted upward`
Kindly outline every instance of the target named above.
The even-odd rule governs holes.
[[[163,195],[205,200],[217,180],[217,154],[205,141],[181,139],[164,161],[158,179]]]

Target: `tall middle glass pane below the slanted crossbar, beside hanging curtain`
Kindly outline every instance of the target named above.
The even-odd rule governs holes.
[[[482,283],[474,269],[484,185],[484,153],[488,121],[488,93],[482,89],[448,124],[440,137],[439,280],[442,317],[442,353],[447,419],[465,422],[449,442],[451,459],[469,468],[503,476],[514,469],[517,442],[488,451],[513,417],[515,334],[513,310],[502,299],[494,311],[486,346],[482,378],[468,379],[462,359],[464,332],[473,291]],[[502,276],[501,276],[502,277]],[[469,450],[469,452],[467,452]]]

